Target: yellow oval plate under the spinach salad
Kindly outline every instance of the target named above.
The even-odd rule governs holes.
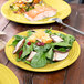
[[[36,29],[36,31],[38,30],[43,30],[44,31],[45,29]],[[57,33],[60,31],[52,30],[52,32],[56,32]],[[60,33],[63,33],[63,32],[60,32]],[[19,35],[27,36],[27,31],[19,33]],[[14,48],[13,46],[9,46],[12,43],[13,40],[14,40],[13,38],[11,40],[9,40],[9,42],[6,45],[6,54],[7,54],[7,57],[13,64],[15,64],[17,66],[19,66],[21,69],[24,69],[24,70],[29,70],[29,71],[34,71],[34,72],[51,72],[51,71],[57,71],[57,70],[64,69],[64,67],[71,65],[72,63],[74,63],[77,60],[77,57],[80,55],[80,52],[81,52],[80,45],[75,41],[73,43],[73,46],[72,46],[70,53],[69,53],[69,56],[65,60],[60,61],[60,62],[55,62],[53,64],[48,64],[44,67],[33,69],[33,67],[31,67],[30,65],[28,65],[28,64],[25,64],[23,62],[17,62],[15,61],[15,59],[17,59],[18,55],[17,54],[12,54]]]

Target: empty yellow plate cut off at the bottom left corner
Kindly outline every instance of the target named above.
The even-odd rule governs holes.
[[[0,84],[19,84],[13,72],[2,64],[0,64]]]

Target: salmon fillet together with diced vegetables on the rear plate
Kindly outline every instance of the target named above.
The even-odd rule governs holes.
[[[19,0],[10,4],[14,13],[23,14],[30,21],[38,21],[56,14],[56,9],[40,3],[41,0]]]

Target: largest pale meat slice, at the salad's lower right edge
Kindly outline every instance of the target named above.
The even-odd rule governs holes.
[[[53,61],[64,60],[69,55],[69,52],[54,52]]]

